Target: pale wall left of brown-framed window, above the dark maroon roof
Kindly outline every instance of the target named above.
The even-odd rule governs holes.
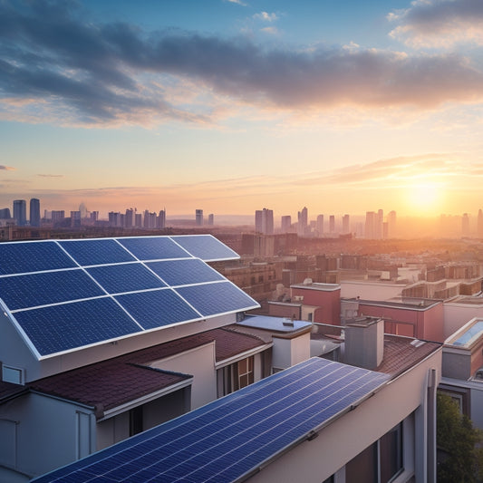
[[[217,399],[214,342],[166,359],[150,362],[150,366],[194,376],[191,384],[191,410]]]

